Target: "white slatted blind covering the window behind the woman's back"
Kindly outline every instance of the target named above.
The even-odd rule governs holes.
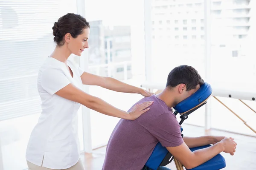
[[[38,69],[55,48],[52,26],[76,0],[0,0],[0,121],[41,112]]]

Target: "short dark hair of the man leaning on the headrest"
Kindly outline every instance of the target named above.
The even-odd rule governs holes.
[[[196,86],[203,85],[204,80],[195,68],[189,65],[180,65],[172,69],[167,78],[166,87],[173,88],[179,84],[185,84],[186,90],[195,89]]]

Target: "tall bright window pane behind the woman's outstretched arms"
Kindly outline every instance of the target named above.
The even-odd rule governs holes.
[[[143,1],[137,0],[86,0],[86,19],[90,22],[90,73],[135,86],[145,80],[143,7]],[[142,97],[97,86],[89,87],[89,93],[125,111]],[[119,119],[93,110],[90,116],[93,148],[107,144]]]

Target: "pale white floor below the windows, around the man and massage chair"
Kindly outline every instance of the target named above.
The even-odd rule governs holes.
[[[204,136],[218,135],[233,137],[237,142],[237,149],[234,156],[227,153],[221,153],[221,155],[226,159],[227,166],[225,170],[256,170],[256,137],[244,136],[229,132],[224,132],[220,130],[210,130],[205,132],[203,127],[197,127],[194,125],[183,124],[183,134],[184,136]],[[101,147],[99,149],[93,150],[93,153],[83,153],[81,154],[81,159],[85,170],[101,170],[102,164],[105,158],[106,147]],[[171,162],[166,167],[172,170],[176,170],[175,164]],[[184,168],[185,169],[185,168]]]

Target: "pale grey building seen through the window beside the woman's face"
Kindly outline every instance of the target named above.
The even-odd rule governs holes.
[[[124,80],[131,78],[131,28],[106,27],[90,22],[89,67],[94,74]]]

